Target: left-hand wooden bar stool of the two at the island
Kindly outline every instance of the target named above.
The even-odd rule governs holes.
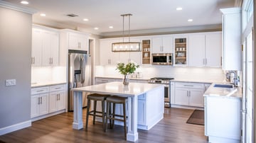
[[[105,100],[109,97],[109,95],[102,95],[97,93],[92,93],[87,96],[87,113],[86,113],[86,121],[85,121],[85,130],[87,130],[89,115],[93,116],[93,125],[95,125],[95,117],[102,118],[103,131],[105,131]],[[93,110],[90,110],[90,103],[94,101]],[[96,110],[97,101],[101,101],[102,103],[102,111]],[[100,115],[96,114],[100,113]]]

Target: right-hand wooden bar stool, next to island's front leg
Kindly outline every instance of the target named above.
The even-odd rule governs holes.
[[[127,137],[127,125],[126,125],[126,102],[128,98],[125,97],[119,97],[119,96],[110,96],[107,97],[107,115],[106,115],[106,127],[105,127],[105,132],[107,132],[107,120],[110,119],[110,128],[114,128],[114,120],[119,120],[124,122],[124,137]],[[113,104],[113,110],[111,113],[111,104]],[[116,104],[122,104],[123,107],[123,115],[119,115],[115,113],[115,106]],[[115,117],[121,117],[120,118],[115,118]]]

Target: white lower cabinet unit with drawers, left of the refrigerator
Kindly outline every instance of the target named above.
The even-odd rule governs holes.
[[[31,88],[31,118],[33,121],[65,112],[65,84]]]

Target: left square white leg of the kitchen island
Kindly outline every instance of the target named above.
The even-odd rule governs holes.
[[[82,123],[82,91],[74,92],[74,113],[73,113],[73,129],[80,130],[83,127]]]

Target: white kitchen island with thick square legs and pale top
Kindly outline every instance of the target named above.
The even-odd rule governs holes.
[[[138,120],[144,120],[149,125],[148,128],[151,128],[164,118],[164,85],[162,84],[129,83],[128,86],[124,86],[122,82],[110,82],[73,88],[72,91],[74,92],[73,129],[76,130],[83,127],[82,92],[128,97],[127,141],[137,141]],[[145,99],[143,105],[139,103],[139,99]],[[138,107],[144,108],[143,119],[140,118],[141,114],[138,115]]]

